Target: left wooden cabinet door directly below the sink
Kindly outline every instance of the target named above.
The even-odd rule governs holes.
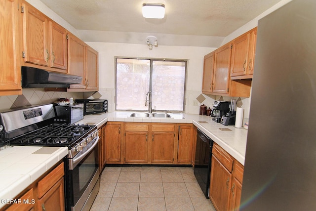
[[[125,163],[148,162],[148,131],[125,131]]]

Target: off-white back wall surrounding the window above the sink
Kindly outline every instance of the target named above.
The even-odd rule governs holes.
[[[149,50],[147,44],[105,42],[87,42],[87,44],[99,52],[99,93],[103,98],[109,100],[109,111],[115,109],[115,57],[121,56],[188,60],[185,112],[191,114],[199,112],[200,104],[193,104],[201,94],[203,58],[216,48],[159,45]],[[209,98],[205,99],[203,103],[211,105],[213,101],[213,98]]]

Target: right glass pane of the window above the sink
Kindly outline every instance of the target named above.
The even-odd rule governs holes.
[[[153,108],[183,111],[185,62],[153,61]]]

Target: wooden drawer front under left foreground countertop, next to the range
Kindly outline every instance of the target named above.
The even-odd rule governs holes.
[[[39,199],[53,187],[61,177],[64,176],[64,163],[61,163],[58,167],[49,172],[38,183],[38,197]]]

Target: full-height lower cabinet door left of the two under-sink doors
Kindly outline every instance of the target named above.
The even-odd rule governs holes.
[[[120,145],[121,145],[121,128],[120,123],[110,123],[106,125],[106,162],[120,162]]]

